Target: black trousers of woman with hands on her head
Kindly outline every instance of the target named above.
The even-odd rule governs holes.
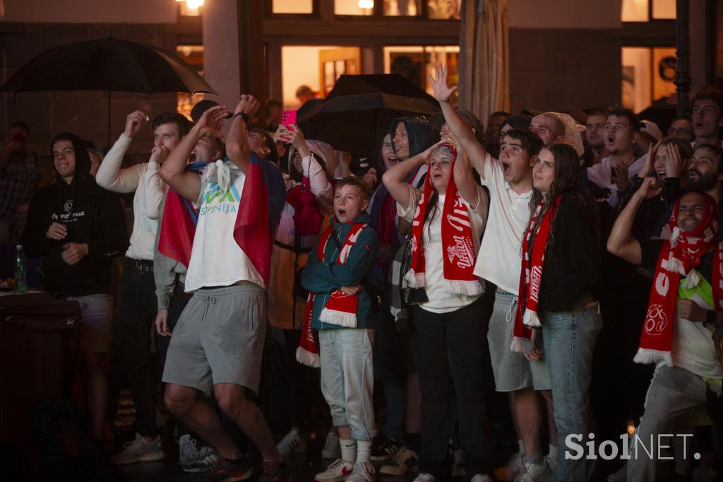
[[[455,422],[456,394],[459,439],[466,480],[491,474],[494,446],[489,439],[484,405],[484,336],[482,298],[452,313],[412,307],[411,344],[422,393],[422,451],[419,470],[446,480],[445,461]],[[452,382],[450,383],[450,373]]]

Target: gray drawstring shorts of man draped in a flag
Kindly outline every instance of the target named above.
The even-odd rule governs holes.
[[[266,292],[255,284],[199,289],[174,327],[163,381],[211,394],[215,384],[257,392]]]

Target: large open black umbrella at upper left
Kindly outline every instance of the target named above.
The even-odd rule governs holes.
[[[18,70],[0,90],[108,91],[108,145],[111,140],[111,90],[117,92],[213,93],[193,67],[155,46],[108,36],[51,48]]]

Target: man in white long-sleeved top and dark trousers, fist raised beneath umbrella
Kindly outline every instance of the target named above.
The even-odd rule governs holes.
[[[164,112],[153,119],[153,150],[148,162],[121,169],[123,157],[134,135],[147,122],[142,111],[128,114],[126,127],[108,155],[100,164],[95,182],[114,193],[133,193],[133,232],[130,246],[123,258],[123,276],[116,299],[119,347],[128,372],[128,381],[136,412],[134,441],[111,457],[115,464],[132,464],[163,460],[163,449],[155,429],[155,385],[151,364],[151,335],[157,313],[153,280],[153,245],[158,221],[147,216],[146,193],[152,191],[160,203],[165,194],[163,183],[153,172],[166,160],[187,134],[191,123],[176,112]],[[154,184],[155,183],[155,184]]]

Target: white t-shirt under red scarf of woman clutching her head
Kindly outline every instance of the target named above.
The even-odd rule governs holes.
[[[421,190],[414,189],[409,186],[410,201],[408,208],[404,209],[397,203],[397,211],[407,221],[414,219],[416,205],[419,203],[419,195]],[[481,186],[477,186],[479,200],[474,200],[476,206],[470,205],[464,198],[462,202],[469,211],[469,219],[472,231],[472,240],[474,242],[474,250],[479,251],[479,239],[484,232],[484,224],[487,221],[487,193]],[[427,219],[424,223],[424,234],[422,236],[424,243],[424,282],[426,286],[424,290],[427,292],[427,303],[422,303],[422,308],[432,313],[449,313],[450,311],[464,308],[474,303],[481,295],[466,296],[454,295],[445,291],[444,284],[444,253],[442,248],[442,208],[445,205],[445,195],[437,198],[437,209],[432,219]],[[474,207],[474,211],[472,208]]]

